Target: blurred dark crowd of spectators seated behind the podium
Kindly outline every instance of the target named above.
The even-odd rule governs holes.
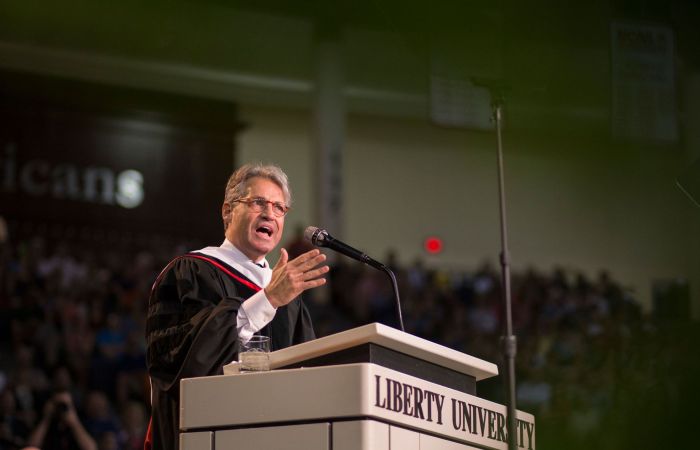
[[[105,250],[89,239],[5,236],[0,450],[141,448],[149,415],[148,290],[156,268],[197,245],[125,239]],[[295,236],[294,246],[302,245]],[[498,270],[484,264],[473,273],[444,271],[420,260],[402,267],[395,254],[389,259],[407,332],[501,364]],[[530,268],[514,272],[512,286],[518,408],[535,414],[538,446],[623,445],[622,437],[601,432],[606,423],[639,418],[639,392],[673,393],[684,385],[683,374],[669,373],[682,355],[666,333],[678,327],[652,321],[611,274],[591,279]],[[309,302],[320,336],[375,321],[397,326],[388,278],[342,257],[327,289]],[[480,383],[479,395],[504,403],[501,382]],[[671,401],[662,397],[654,397],[658,408]]]

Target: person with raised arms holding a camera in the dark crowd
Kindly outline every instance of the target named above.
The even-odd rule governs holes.
[[[29,435],[28,444],[41,450],[97,450],[97,443],[81,423],[67,391],[54,394],[46,402],[44,414]]]

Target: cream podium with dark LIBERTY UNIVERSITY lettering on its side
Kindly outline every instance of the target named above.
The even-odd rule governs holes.
[[[373,323],[272,352],[273,370],[180,385],[181,450],[506,450],[489,362]],[[517,413],[519,448],[535,418]]]

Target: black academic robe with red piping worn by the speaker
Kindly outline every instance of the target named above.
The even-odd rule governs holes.
[[[147,448],[179,448],[180,380],[220,375],[223,366],[237,358],[238,308],[258,290],[233,267],[199,253],[176,258],[159,275],[151,290],[146,323],[152,388],[151,446],[147,437]],[[270,336],[273,351],[315,337],[300,298],[278,308],[260,333]]]

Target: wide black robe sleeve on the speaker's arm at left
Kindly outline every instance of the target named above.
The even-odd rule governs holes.
[[[177,395],[180,379],[221,373],[238,351],[240,294],[206,262],[180,258],[166,268],[151,293],[146,325],[152,383]]]

